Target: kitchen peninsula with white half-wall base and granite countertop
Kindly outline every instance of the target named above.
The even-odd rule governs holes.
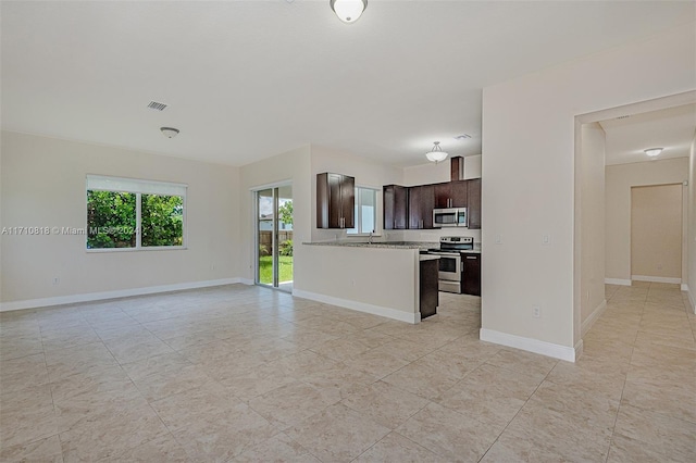
[[[294,293],[401,322],[420,323],[421,296],[425,296],[421,290],[421,280],[425,280],[421,267],[431,264],[427,272],[437,272],[437,256],[421,255],[420,251],[436,245],[303,242],[301,265],[311,265],[316,271],[312,272],[312,280],[304,281],[302,289]]]

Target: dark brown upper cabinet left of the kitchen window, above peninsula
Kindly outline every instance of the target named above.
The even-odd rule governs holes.
[[[316,174],[316,228],[355,227],[356,178]]]

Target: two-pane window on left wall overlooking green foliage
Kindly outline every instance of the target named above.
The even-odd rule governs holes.
[[[87,176],[87,249],[184,248],[186,185]]]

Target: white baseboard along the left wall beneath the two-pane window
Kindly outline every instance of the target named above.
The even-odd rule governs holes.
[[[52,305],[74,304],[77,302],[101,301],[104,299],[127,298],[132,296],[154,295],[158,292],[181,291],[185,289],[208,288],[212,286],[234,285],[240,278],[209,279],[206,281],[177,283],[174,285],[147,286],[144,288],[119,289],[115,291],[87,292],[83,295],[58,296],[55,298],[26,299],[0,303],[0,312],[38,309]]]

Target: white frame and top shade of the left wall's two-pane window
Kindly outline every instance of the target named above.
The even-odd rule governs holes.
[[[139,252],[139,251],[182,251],[186,250],[188,242],[188,226],[186,225],[186,197],[188,185],[174,184],[171,182],[144,180],[138,178],[110,177],[104,175],[87,175],[85,182],[85,211],[87,211],[87,192],[88,191],[114,191],[135,193],[136,196],[136,238],[134,248],[87,248],[87,236],[89,233],[89,223],[87,214],[85,214],[85,250],[87,252]],[[142,195],[162,195],[162,196],[181,196],[184,210],[182,211],[182,246],[142,246],[142,227],[141,216],[141,199]]]

